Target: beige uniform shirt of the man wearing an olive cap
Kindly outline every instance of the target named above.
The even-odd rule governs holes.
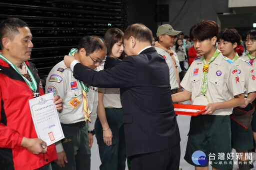
[[[169,79],[170,79],[170,89],[177,89],[178,83],[176,80],[176,74],[175,74],[175,69],[174,69],[174,64],[172,61],[172,58],[168,52],[166,52],[164,49],[161,49],[159,47],[155,47],[156,51],[158,54],[162,55],[165,58],[165,61],[169,67]],[[172,51],[173,52],[173,51]],[[174,53],[173,53],[174,55]]]

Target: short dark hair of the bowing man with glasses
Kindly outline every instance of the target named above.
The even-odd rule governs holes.
[[[93,53],[94,51],[97,50],[105,50],[106,51],[106,43],[104,41],[104,39],[102,39],[99,36],[95,36],[95,35],[87,35],[82,37],[79,42],[78,42],[78,51],[84,48],[86,51],[86,56],[88,56],[89,54]]]

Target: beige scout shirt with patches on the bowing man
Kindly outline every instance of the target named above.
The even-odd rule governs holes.
[[[59,95],[63,99],[63,109],[59,111],[59,120],[63,124],[73,124],[85,120],[82,103],[82,87],[73,72],[63,61],[57,63],[46,79],[46,92]],[[88,131],[94,129],[97,108],[97,88],[90,87],[88,95],[88,109],[90,120]]]

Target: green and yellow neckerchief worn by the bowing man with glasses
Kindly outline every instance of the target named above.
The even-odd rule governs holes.
[[[73,55],[74,53],[77,52],[76,48],[72,48],[70,50],[70,52],[68,53],[68,55]],[[83,113],[84,113],[84,117],[85,117],[85,122],[88,120],[90,122],[90,113],[89,113],[89,109],[88,109],[88,99],[87,99],[87,93],[89,91],[89,85],[85,85],[83,82],[81,82],[80,80],[78,80],[81,87],[82,87],[82,105],[83,105]]]

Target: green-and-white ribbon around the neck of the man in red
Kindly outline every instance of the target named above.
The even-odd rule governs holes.
[[[5,58],[1,53],[0,53],[0,58],[3,59],[6,63],[8,63],[26,82],[26,84],[28,85],[28,87],[33,91],[32,95],[34,97],[38,97],[40,93],[36,93],[36,89],[37,89],[37,84],[36,81],[34,79],[34,76],[32,75],[31,71],[29,70],[29,68],[27,67],[27,65],[25,64],[25,62],[23,62],[26,66],[27,72],[31,78],[30,82],[29,80],[27,80],[19,71],[18,68],[12,63],[10,62],[7,58]]]

